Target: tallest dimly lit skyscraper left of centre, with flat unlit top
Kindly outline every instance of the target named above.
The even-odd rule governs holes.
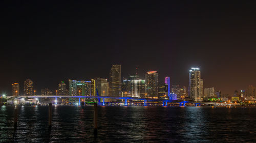
[[[112,97],[121,95],[121,65],[112,65],[109,79],[109,94]]]

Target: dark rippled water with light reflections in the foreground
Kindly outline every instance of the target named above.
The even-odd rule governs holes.
[[[53,106],[48,130],[47,106],[0,107],[0,142],[256,142],[256,108]]]

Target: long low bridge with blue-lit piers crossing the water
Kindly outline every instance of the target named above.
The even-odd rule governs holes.
[[[219,103],[214,102],[196,102],[196,101],[181,101],[181,100],[168,100],[168,99],[153,99],[153,98],[138,98],[138,97],[112,97],[112,96],[69,96],[69,95],[30,95],[30,96],[7,96],[7,99],[13,97],[22,98],[55,98],[55,104],[57,104],[57,98],[78,98],[78,104],[80,105],[80,98],[98,98],[102,99],[102,105],[105,105],[106,99],[123,99],[124,105],[127,106],[127,100],[141,100],[144,101],[144,106],[146,106],[147,101],[162,102],[163,106],[167,106],[167,103],[179,103],[180,106],[185,106],[186,103],[195,104],[195,106],[205,105],[219,105]]]

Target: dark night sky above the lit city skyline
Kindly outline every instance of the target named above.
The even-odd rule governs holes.
[[[204,88],[256,85],[253,1],[1,2],[0,94],[29,78],[37,91],[59,81],[122,77],[149,70],[188,86],[199,67]],[[38,92],[40,94],[40,92]]]

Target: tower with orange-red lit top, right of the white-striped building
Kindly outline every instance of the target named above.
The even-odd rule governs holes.
[[[157,71],[148,71],[145,75],[146,97],[158,99],[158,73]]]

